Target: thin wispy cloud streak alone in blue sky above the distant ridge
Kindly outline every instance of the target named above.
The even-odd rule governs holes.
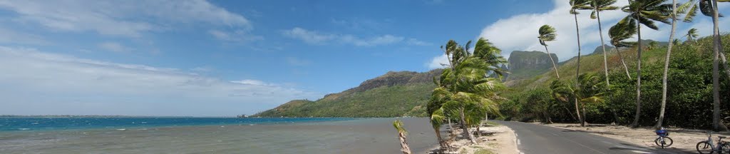
[[[404,36],[394,36],[391,34],[375,36],[372,38],[361,38],[352,34],[326,34],[299,27],[285,30],[282,34],[293,39],[301,39],[310,45],[325,45],[330,42],[340,42],[356,46],[377,46],[391,45],[398,42],[404,42],[404,40],[407,41],[408,45],[430,45],[430,43],[419,41],[418,39],[406,39]]]

